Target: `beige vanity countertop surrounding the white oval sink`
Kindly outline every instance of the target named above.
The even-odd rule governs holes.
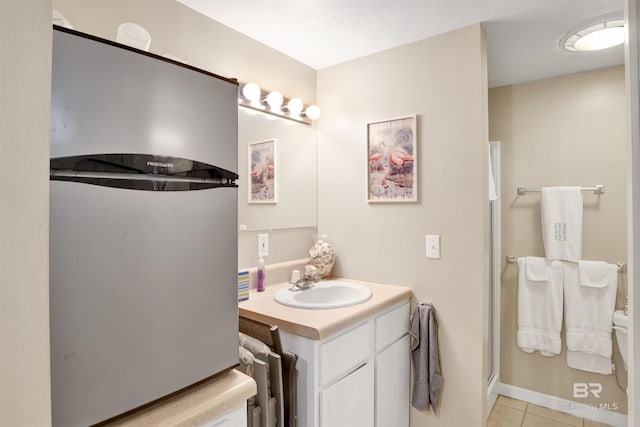
[[[267,286],[264,292],[252,289],[249,299],[239,303],[240,316],[270,325],[278,325],[280,330],[313,340],[324,339],[335,332],[384,310],[387,307],[411,298],[412,290],[404,286],[382,285],[360,280],[332,278],[357,283],[371,289],[372,296],[362,304],[351,307],[310,310],[278,304],[275,293],[291,286],[284,282]],[[303,291],[304,292],[304,291]]]

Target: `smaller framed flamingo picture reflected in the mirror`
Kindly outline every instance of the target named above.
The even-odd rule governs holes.
[[[254,142],[249,147],[249,203],[277,203],[276,140]]]

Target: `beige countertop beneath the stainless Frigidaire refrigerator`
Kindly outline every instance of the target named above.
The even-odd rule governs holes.
[[[255,394],[253,378],[232,369],[105,425],[196,426],[235,409]]]

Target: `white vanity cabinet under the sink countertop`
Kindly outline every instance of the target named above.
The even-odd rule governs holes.
[[[408,326],[407,299],[324,339],[281,331],[299,356],[298,426],[408,426]]]

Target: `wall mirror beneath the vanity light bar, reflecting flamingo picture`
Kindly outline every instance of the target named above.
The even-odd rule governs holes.
[[[275,140],[274,203],[249,203],[249,145]],[[315,227],[316,130],[240,108],[238,111],[238,226],[240,231]]]

